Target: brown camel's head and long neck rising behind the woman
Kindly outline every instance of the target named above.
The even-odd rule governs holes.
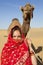
[[[23,24],[22,24],[22,33],[27,35],[27,32],[30,29],[30,21],[31,18],[33,18],[33,11],[34,11],[34,6],[30,4],[26,4],[24,7],[21,7],[21,11],[23,13]]]

